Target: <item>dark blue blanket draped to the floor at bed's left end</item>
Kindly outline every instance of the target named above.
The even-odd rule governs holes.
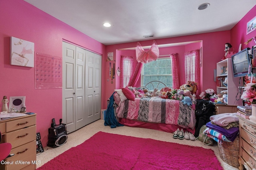
[[[116,93],[116,92],[114,92],[114,93]],[[116,116],[115,116],[115,113],[114,113],[114,107],[113,107],[113,105],[114,105],[114,93],[110,97],[110,102],[108,104],[108,108],[107,108],[107,111],[106,111],[105,122],[104,122],[105,126],[110,126],[111,128],[124,126],[116,120]]]

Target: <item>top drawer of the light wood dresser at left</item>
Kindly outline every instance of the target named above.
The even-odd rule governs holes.
[[[6,122],[6,132],[36,125],[36,117],[26,117],[15,121]]]

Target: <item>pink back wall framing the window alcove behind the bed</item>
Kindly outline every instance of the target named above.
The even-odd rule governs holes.
[[[142,46],[150,46],[153,40],[147,40],[140,42]],[[212,88],[216,90],[216,83],[214,81],[214,69],[216,69],[216,63],[222,59],[224,56],[224,47],[226,42],[230,42],[230,30],[222,31],[222,32],[212,32],[212,33],[205,33],[205,34],[196,34],[192,36],[181,36],[175,38],[164,38],[164,39],[157,39],[156,43],[160,44],[169,44],[169,43],[179,43],[179,42],[190,42],[190,41],[202,41],[200,43],[195,43],[192,45],[186,45],[182,51],[179,49],[168,49],[170,52],[163,53],[170,54],[170,53],[178,53],[179,56],[183,56],[183,59],[179,57],[179,72],[183,75],[180,76],[180,83],[186,83],[184,81],[184,53],[187,51],[191,51],[193,49],[200,49],[202,47],[202,67],[200,69],[201,73],[201,84],[200,88],[202,90],[206,90],[208,88]],[[107,45],[106,46],[106,53],[114,52],[114,57],[116,57],[116,61],[119,61],[120,53],[116,53],[116,49],[123,49],[123,48],[131,48],[136,47],[137,42],[132,43],[122,43],[122,44],[115,44],[115,45]],[[173,48],[173,47],[172,47]],[[178,47],[177,47],[178,48]],[[134,54],[134,57],[136,55]],[[116,63],[119,65],[120,63]],[[118,83],[111,84],[110,82],[106,81],[106,78],[103,78],[102,81],[106,83],[105,87],[108,89],[106,91],[106,99],[102,99],[103,101],[107,100],[113,93],[114,89],[119,87]],[[115,79],[114,81],[118,81]],[[139,86],[140,84],[137,84]],[[202,91],[201,90],[201,91]],[[104,106],[103,106],[104,108]],[[106,106],[105,106],[106,108]]]

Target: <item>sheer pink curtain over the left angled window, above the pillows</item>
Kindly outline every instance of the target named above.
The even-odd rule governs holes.
[[[121,55],[120,87],[126,87],[132,76],[133,57]]]

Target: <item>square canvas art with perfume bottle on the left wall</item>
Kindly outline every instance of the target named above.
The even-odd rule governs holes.
[[[24,67],[34,67],[34,43],[11,37],[10,64]]]

